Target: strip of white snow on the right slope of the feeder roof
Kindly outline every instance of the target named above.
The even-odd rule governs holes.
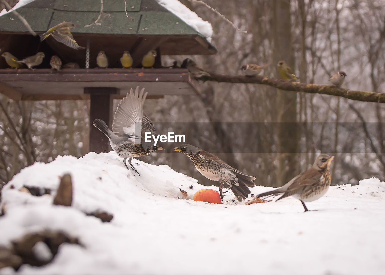
[[[197,32],[203,34],[209,41],[213,35],[213,27],[208,21],[203,21],[195,12],[178,0],[156,0],[160,5],[181,18]]]

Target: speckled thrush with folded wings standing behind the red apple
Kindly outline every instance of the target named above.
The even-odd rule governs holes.
[[[221,195],[222,200],[222,188],[225,183],[229,186],[231,191],[233,191],[238,201],[247,198],[248,194],[250,194],[250,189],[248,187],[254,187],[255,185],[253,182],[255,177],[243,174],[241,171],[231,167],[214,154],[206,152],[201,148],[190,144],[183,144],[174,148],[174,151],[185,154],[203,176],[212,181],[219,181],[221,183],[219,185],[219,194]]]

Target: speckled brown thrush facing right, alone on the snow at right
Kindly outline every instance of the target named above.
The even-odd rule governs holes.
[[[256,198],[282,194],[276,200],[279,201],[288,196],[293,196],[301,201],[305,212],[308,211],[304,202],[318,200],[328,191],[331,183],[330,163],[333,159],[334,157],[330,157],[327,154],[321,154],[316,158],[311,168],[294,177],[284,186],[261,193]]]

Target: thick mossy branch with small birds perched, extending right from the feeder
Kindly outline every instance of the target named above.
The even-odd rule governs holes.
[[[228,83],[264,84],[283,91],[328,94],[330,96],[340,96],[358,101],[385,103],[385,93],[354,91],[331,85],[290,82],[288,80],[273,79],[262,75],[248,77],[246,75],[223,75],[210,73],[210,75],[202,75],[200,77],[196,77],[196,79]]]

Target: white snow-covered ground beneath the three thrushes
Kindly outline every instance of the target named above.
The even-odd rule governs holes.
[[[23,265],[18,274],[384,273],[385,183],[378,179],[332,186],[307,204],[318,211],[304,213],[293,198],[244,205],[226,193],[229,203],[196,202],[192,195],[204,186],[195,179],[166,165],[132,163],[140,178],[114,152],[63,156],[24,168],[4,186],[0,245],[43,229],[62,230],[84,245],[63,244],[52,263]],[[23,185],[56,190],[66,172],[74,184],[72,207],[18,191]],[[252,193],[268,189],[256,186]],[[102,223],[83,213],[96,210],[114,218]]]

